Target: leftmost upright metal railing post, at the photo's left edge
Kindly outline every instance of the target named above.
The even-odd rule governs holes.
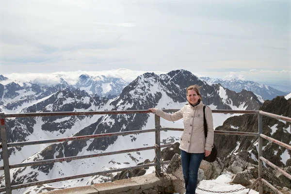
[[[6,194],[11,194],[9,155],[8,155],[7,136],[6,136],[6,127],[5,127],[5,114],[4,113],[0,113],[0,130],[1,130],[2,158],[3,158],[3,166],[4,166]]]

